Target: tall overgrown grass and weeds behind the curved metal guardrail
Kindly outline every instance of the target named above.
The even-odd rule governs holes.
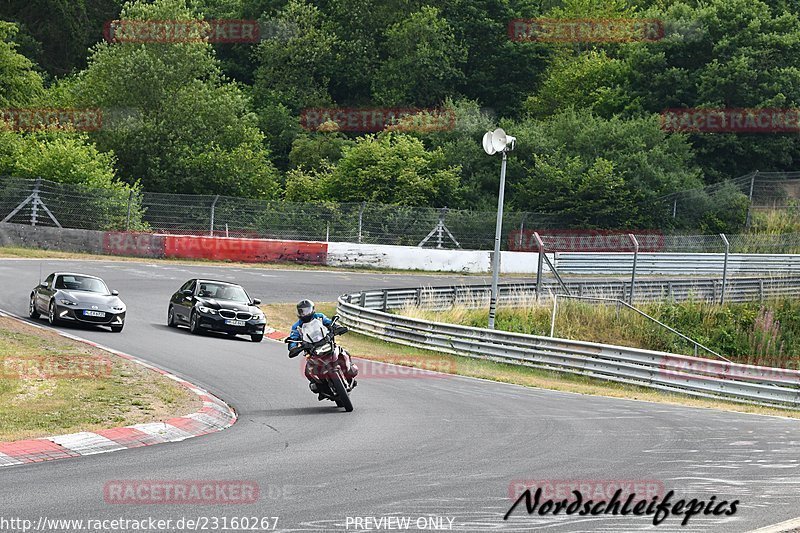
[[[501,307],[497,329],[549,335],[552,301],[534,299]],[[457,305],[443,311],[409,307],[400,314],[470,327],[486,327],[486,308]],[[662,301],[639,309],[724,357],[743,364],[800,368],[800,300],[712,304]],[[623,306],[560,299],[555,336],[603,344],[694,355],[694,345]],[[700,349],[697,355],[715,358]]]

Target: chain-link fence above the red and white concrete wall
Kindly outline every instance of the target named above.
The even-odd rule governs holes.
[[[467,249],[492,248],[496,221],[493,211],[117,191],[18,178],[0,181],[0,217],[81,229],[411,246],[424,241]],[[506,236],[515,229],[564,224],[556,215],[539,213],[507,212],[503,220]]]

